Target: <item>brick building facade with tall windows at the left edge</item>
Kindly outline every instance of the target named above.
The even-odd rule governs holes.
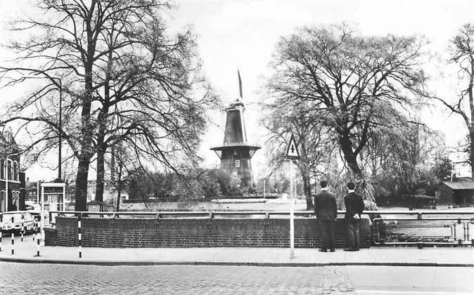
[[[20,154],[11,131],[0,133],[0,212],[20,209]],[[23,186],[24,188],[24,186]]]

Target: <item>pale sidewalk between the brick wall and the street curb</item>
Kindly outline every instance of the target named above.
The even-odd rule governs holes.
[[[82,248],[40,247],[40,257],[32,236],[23,242],[15,237],[11,255],[11,237],[1,243],[0,261],[22,263],[71,263],[90,265],[394,265],[394,266],[474,266],[474,248],[372,247],[359,252],[336,249],[321,253],[317,249],[296,248],[290,259],[288,248]]]

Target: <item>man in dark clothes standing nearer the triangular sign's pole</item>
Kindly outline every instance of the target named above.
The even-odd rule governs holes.
[[[331,252],[334,249],[335,218],[338,217],[338,205],[335,202],[335,195],[328,192],[328,183],[321,181],[321,192],[314,196],[314,214],[318,218],[321,234],[323,235],[323,247],[320,252]]]

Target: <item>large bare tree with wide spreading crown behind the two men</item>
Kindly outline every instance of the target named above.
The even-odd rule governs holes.
[[[413,97],[425,95],[422,45],[416,37],[359,37],[346,25],[305,27],[279,41],[267,88],[286,101],[307,102],[361,181],[360,153],[385,124],[380,110],[409,110]]]

